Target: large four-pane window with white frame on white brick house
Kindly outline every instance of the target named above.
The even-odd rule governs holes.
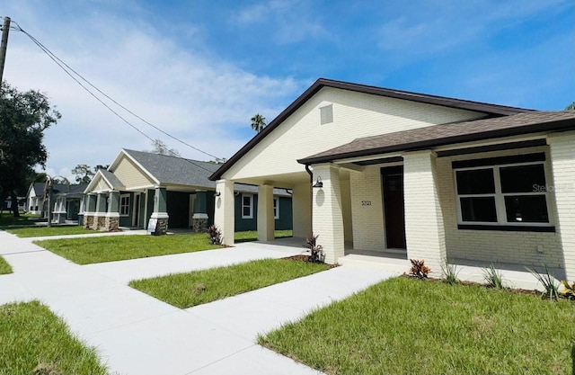
[[[455,169],[460,224],[550,223],[543,162]]]

